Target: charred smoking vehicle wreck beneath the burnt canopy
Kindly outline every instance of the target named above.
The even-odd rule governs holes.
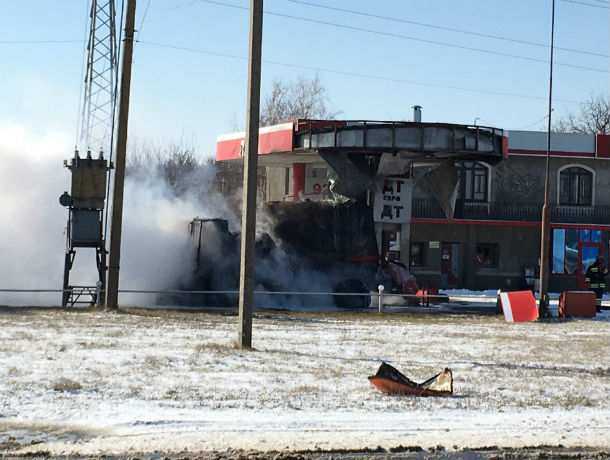
[[[348,202],[273,203],[265,211],[269,232],[256,238],[257,306],[366,308],[378,281],[377,242],[370,208]],[[303,223],[307,224],[304,225]],[[211,307],[236,304],[240,235],[224,219],[189,224],[194,272],[184,290],[214,291],[172,299]],[[273,237],[271,236],[273,235]],[[295,292],[362,293],[361,296],[297,295]],[[262,292],[272,292],[266,295]],[[286,292],[285,295],[279,294]]]

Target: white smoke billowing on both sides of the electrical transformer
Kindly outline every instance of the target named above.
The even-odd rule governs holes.
[[[71,142],[62,133],[34,134],[0,123],[0,289],[60,289],[63,278],[67,211],[58,197],[70,189],[63,160]],[[193,183],[205,185],[212,171]],[[192,271],[188,223],[195,217],[229,215],[219,197],[176,198],[154,174],[128,177],[125,186],[122,289],[167,289]],[[75,284],[94,284],[94,252],[81,249],[72,270]],[[122,296],[145,305],[150,296]],[[60,295],[0,292],[0,305],[58,305]]]

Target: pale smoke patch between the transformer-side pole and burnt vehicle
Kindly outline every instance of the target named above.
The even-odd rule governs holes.
[[[225,201],[207,193],[212,167],[188,177],[188,192],[176,196],[152,166],[128,176],[125,184],[121,286],[126,289],[175,289],[194,269],[189,222],[194,217],[234,221]],[[140,305],[154,299],[154,295],[121,297],[124,303]]]

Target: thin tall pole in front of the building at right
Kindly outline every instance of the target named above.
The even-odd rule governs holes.
[[[542,318],[549,316],[548,287],[549,287],[549,247],[551,234],[551,219],[549,212],[550,188],[550,162],[551,162],[551,117],[553,113],[553,55],[555,48],[555,0],[551,7],[551,61],[549,69],[549,112],[546,144],[546,166],[544,173],[544,204],[542,206],[542,227],[540,237],[540,304],[539,315]]]

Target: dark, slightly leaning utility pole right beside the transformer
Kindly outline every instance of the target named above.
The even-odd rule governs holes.
[[[123,189],[125,186],[125,156],[129,124],[129,93],[131,88],[131,61],[135,34],[136,0],[127,0],[125,38],[121,62],[121,89],[119,96],[119,122],[116,141],[116,169],[112,195],[112,223],[110,227],[110,259],[108,263],[108,293],[106,308],[119,307],[119,265],[121,261],[121,230],[123,226]]]

